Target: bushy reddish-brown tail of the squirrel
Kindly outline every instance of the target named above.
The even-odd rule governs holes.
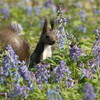
[[[0,26],[0,45],[10,44],[15,53],[19,56],[20,61],[29,58],[29,45],[26,40],[18,36],[17,30],[8,26]]]

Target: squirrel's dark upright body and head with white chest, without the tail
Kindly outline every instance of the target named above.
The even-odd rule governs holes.
[[[30,56],[29,68],[38,64],[41,59],[52,56],[52,45],[56,42],[56,30],[54,29],[54,20],[50,20],[51,28],[48,27],[47,19],[44,20],[43,31],[33,53]]]

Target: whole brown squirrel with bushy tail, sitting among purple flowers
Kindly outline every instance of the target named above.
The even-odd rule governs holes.
[[[20,61],[28,61],[29,68],[38,64],[41,59],[52,56],[52,45],[56,42],[56,31],[54,29],[54,20],[50,21],[51,28],[47,27],[47,19],[44,20],[43,30],[37,43],[37,46],[30,56],[29,44],[18,35],[18,28],[15,24],[0,26],[0,44],[11,44]]]

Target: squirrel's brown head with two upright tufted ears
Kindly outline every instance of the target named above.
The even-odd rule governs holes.
[[[48,22],[45,18],[40,41],[44,44],[53,45],[56,42],[56,30],[54,29],[54,20],[50,20],[51,27],[48,27],[47,24]]]

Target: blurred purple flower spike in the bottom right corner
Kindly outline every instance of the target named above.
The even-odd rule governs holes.
[[[83,92],[85,92],[83,100],[95,100],[96,95],[94,93],[93,87],[89,83],[85,84]]]

